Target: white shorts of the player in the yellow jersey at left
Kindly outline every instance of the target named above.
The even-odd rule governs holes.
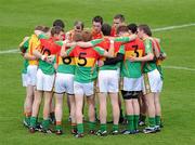
[[[29,65],[27,67],[27,85],[36,85],[37,80],[37,65]]]

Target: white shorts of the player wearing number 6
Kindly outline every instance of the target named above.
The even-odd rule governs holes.
[[[54,90],[56,93],[74,94],[74,75],[57,72]]]

